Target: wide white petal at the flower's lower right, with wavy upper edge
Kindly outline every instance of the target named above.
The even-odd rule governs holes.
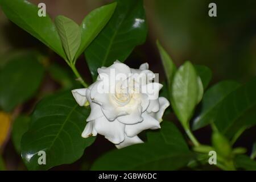
[[[134,137],[138,135],[143,130],[151,129],[160,129],[159,121],[153,118],[147,112],[142,113],[143,121],[134,125],[125,125],[125,133],[128,137]]]

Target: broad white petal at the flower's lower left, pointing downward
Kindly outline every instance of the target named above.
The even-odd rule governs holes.
[[[117,120],[108,121],[105,117],[101,117],[95,120],[94,127],[98,134],[104,135],[114,144],[121,143],[125,139],[125,125]]]

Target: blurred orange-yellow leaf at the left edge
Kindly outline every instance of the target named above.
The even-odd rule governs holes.
[[[0,111],[0,147],[5,142],[11,125],[9,114]]]

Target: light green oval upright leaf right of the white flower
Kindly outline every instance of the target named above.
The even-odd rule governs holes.
[[[199,101],[198,78],[195,68],[187,61],[177,70],[172,82],[171,103],[183,126],[188,125]]]

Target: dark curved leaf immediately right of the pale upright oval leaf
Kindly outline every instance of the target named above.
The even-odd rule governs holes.
[[[222,81],[205,92],[200,114],[193,121],[193,130],[200,129],[213,122],[222,100],[240,84],[235,81]]]

